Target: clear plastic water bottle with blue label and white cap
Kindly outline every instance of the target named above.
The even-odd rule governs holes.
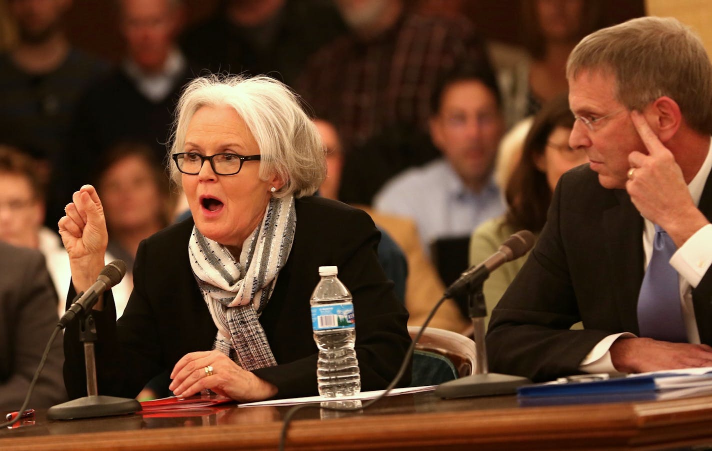
[[[351,293],[337,279],[336,266],[320,266],[321,280],[311,297],[314,341],[319,348],[319,394],[327,398],[361,391],[361,375],[354,351],[356,329]]]

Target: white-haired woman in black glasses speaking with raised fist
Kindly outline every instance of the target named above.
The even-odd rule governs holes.
[[[378,264],[370,217],[312,196],[325,152],[295,95],[267,77],[198,78],[179,102],[170,157],[192,218],[140,244],[117,323],[110,294],[95,307],[100,394],[133,397],[164,370],[182,397],[205,388],[240,401],[317,394],[309,299],[326,265],[353,295],[362,388],[384,388],[410,343],[407,313]],[[59,229],[74,289],[87,289],[108,241],[93,187],[74,193]],[[65,342],[77,398],[78,326]]]

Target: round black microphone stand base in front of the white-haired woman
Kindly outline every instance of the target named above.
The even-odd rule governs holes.
[[[74,418],[109,417],[136,413],[140,410],[141,404],[135,399],[93,395],[53,405],[47,410],[47,418],[73,420]]]

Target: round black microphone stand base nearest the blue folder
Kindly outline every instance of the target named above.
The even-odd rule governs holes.
[[[434,393],[440,398],[474,398],[476,396],[512,395],[517,387],[532,383],[521,376],[485,373],[473,374],[438,385]]]

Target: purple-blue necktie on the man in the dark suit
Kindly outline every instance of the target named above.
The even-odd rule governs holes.
[[[638,297],[638,326],[642,337],[686,343],[680,282],[677,271],[669,263],[676,250],[669,235],[656,225],[653,254]]]

